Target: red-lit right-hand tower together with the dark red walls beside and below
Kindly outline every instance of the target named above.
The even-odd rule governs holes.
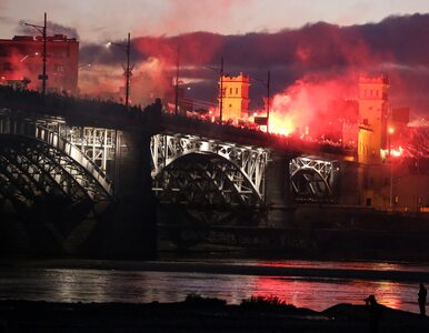
[[[428,205],[429,175],[400,159],[408,142],[410,110],[392,109],[385,75],[359,80],[359,203],[386,211],[420,211]],[[417,169],[417,168],[416,168]]]

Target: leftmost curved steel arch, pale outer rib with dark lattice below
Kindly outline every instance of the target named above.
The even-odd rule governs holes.
[[[21,135],[0,135],[0,172],[27,202],[46,195],[70,203],[109,200],[83,167],[51,145]]]

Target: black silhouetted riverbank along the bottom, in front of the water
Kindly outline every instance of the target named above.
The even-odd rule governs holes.
[[[363,305],[0,302],[0,332],[369,332]],[[429,332],[429,319],[383,307],[379,332]]]

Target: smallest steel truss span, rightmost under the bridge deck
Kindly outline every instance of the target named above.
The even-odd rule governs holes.
[[[332,162],[310,158],[295,158],[289,172],[295,199],[298,201],[331,201]]]

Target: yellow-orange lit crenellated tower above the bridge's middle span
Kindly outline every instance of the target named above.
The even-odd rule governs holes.
[[[235,122],[239,119],[247,118],[249,110],[249,75],[243,75],[242,72],[238,77],[223,75],[222,81],[222,118],[225,120],[232,119]],[[219,82],[220,87],[220,82]]]

